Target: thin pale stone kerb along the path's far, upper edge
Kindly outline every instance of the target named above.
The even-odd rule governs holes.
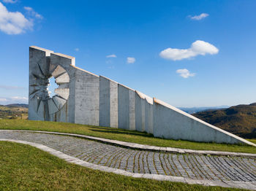
[[[1,131],[50,133],[50,134],[64,135],[64,136],[76,136],[76,137],[80,137],[80,138],[90,139],[93,141],[100,141],[105,144],[113,144],[113,145],[117,145],[117,146],[121,146],[121,147],[126,147],[129,149],[141,149],[141,150],[148,150],[148,151],[154,151],[154,152],[170,152],[170,153],[176,153],[176,154],[217,155],[217,156],[256,158],[256,154],[252,154],[252,153],[178,149],[178,148],[173,148],[173,147],[157,147],[157,146],[150,146],[150,145],[146,145],[146,144],[135,144],[135,143],[124,142],[124,141],[104,139],[104,138],[99,138],[99,137],[94,137],[94,136],[79,135],[79,134],[75,134],[75,133],[59,133],[59,132],[50,132],[50,131],[42,131],[42,130],[0,130],[0,132]]]

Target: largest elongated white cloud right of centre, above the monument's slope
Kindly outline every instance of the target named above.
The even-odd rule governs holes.
[[[191,44],[191,47],[188,49],[176,49],[176,48],[167,48],[162,50],[159,53],[159,56],[168,60],[180,61],[185,58],[193,58],[197,55],[215,55],[219,52],[217,47],[214,45],[204,42],[201,40],[197,40]]]

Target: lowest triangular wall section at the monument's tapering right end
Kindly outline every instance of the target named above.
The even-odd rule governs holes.
[[[154,136],[229,144],[245,141],[156,98],[154,98]]]

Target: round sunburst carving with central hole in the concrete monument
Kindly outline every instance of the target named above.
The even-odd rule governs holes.
[[[33,73],[35,83],[30,85],[31,102],[34,102],[34,112],[45,120],[51,114],[59,112],[69,98],[69,74],[61,67],[56,66],[50,75],[43,72],[41,67]],[[46,111],[46,112],[45,112]]]

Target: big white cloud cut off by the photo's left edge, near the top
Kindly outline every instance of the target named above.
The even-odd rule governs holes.
[[[0,2],[0,30],[6,34],[21,34],[33,27],[33,22],[20,12],[9,12]]]

